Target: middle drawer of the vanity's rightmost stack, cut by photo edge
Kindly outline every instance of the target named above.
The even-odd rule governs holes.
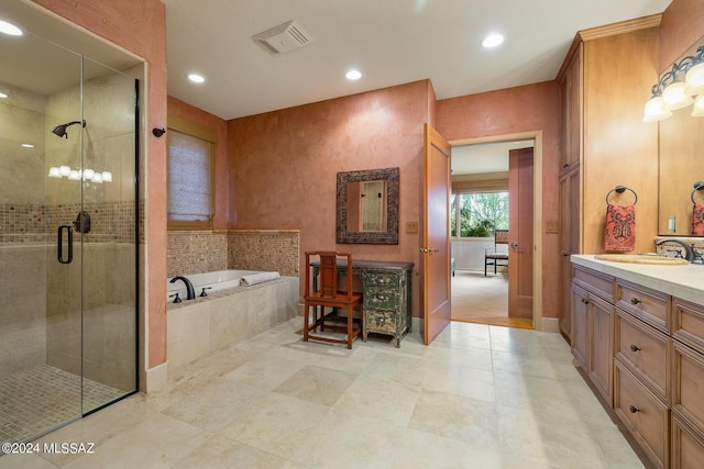
[[[704,355],[672,340],[672,409],[704,432]]]

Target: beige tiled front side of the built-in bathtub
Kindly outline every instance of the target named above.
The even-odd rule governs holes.
[[[205,298],[199,297],[201,288],[196,288],[196,300],[168,303],[169,370],[261,334],[298,313],[298,277],[207,290]]]

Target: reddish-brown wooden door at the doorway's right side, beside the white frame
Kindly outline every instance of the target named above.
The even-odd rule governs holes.
[[[532,148],[508,152],[508,317],[532,320]]]

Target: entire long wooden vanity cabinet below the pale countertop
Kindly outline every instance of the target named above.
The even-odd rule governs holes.
[[[624,280],[617,269],[607,269],[610,276],[574,264],[573,270],[575,359],[656,467],[702,467],[704,304]],[[610,342],[604,339],[608,308]],[[612,401],[608,375],[598,368],[605,357],[612,357]]]

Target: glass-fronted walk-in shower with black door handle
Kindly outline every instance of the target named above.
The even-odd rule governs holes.
[[[0,34],[0,442],[138,389],[136,112],[125,70]]]

